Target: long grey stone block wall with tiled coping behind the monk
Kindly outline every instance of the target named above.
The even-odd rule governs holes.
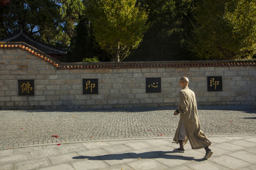
[[[183,76],[190,79],[199,106],[256,106],[253,61],[68,64],[20,44],[0,47],[1,109],[177,106]],[[146,93],[149,77],[161,78],[161,93]],[[208,91],[207,77],[222,77],[223,90]],[[21,79],[34,80],[34,96],[18,96]],[[98,94],[83,94],[82,79],[98,79]]]

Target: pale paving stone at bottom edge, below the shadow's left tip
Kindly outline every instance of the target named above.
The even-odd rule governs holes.
[[[107,163],[100,160],[84,160],[80,162],[71,162],[75,170],[87,170],[87,169],[103,169],[110,167]]]

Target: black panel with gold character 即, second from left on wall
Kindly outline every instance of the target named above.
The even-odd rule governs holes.
[[[83,94],[98,94],[98,79],[82,79]]]

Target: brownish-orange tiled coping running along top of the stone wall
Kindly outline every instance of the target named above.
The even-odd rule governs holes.
[[[57,69],[124,69],[124,68],[171,68],[171,67],[238,67],[256,66],[256,60],[215,60],[215,61],[161,61],[161,62],[97,62],[63,63],[24,42],[0,42],[1,49],[26,50],[36,57],[53,64]]]

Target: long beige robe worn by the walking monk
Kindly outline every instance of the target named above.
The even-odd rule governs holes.
[[[174,142],[178,144],[178,132],[183,121],[186,130],[185,144],[189,140],[192,149],[201,149],[203,147],[210,146],[210,140],[208,140],[206,135],[200,130],[195,93],[191,91],[191,89],[188,89],[188,87],[185,87],[179,92],[178,96],[178,111],[180,112],[180,120],[174,136]]]

